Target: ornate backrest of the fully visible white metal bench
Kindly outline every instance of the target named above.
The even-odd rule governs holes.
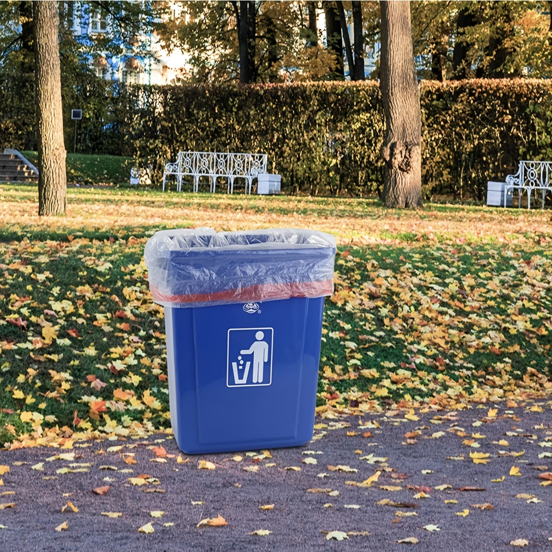
[[[267,159],[266,153],[181,151],[177,164],[182,174],[255,177],[267,172]]]

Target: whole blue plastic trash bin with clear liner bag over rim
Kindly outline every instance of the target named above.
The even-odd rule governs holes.
[[[294,229],[162,230],[148,240],[181,450],[293,447],[312,438],[335,253],[332,235]]]

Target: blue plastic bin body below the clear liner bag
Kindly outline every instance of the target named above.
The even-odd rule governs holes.
[[[188,454],[312,438],[324,298],[166,308],[171,423]]]

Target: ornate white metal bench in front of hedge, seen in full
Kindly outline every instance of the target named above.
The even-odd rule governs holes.
[[[198,191],[199,178],[209,178],[211,192],[216,190],[216,179],[226,178],[227,192],[233,194],[236,178],[245,180],[246,192],[251,194],[253,178],[259,173],[267,172],[266,153],[220,153],[204,151],[178,152],[177,160],[166,163],[163,173],[163,191],[167,176],[174,175],[177,179],[177,190],[182,189],[182,178],[191,176],[194,179],[194,192]]]

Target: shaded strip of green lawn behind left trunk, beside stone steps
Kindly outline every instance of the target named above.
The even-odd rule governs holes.
[[[36,166],[38,163],[36,151],[22,151],[22,153]],[[67,183],[128,184],[130,169],[134,163],[135,160],[132,157],[67,152],[65,161]]]

